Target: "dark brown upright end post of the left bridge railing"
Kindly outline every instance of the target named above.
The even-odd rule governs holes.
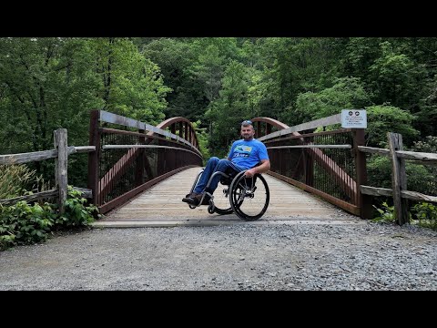
[[[100,190],[98,190],[98,159],[100,157],[99,110],[90,112],[89,146],[95,146],[96,151],[88,154],[88,189],[93,190],[93,203],[100,205]]]

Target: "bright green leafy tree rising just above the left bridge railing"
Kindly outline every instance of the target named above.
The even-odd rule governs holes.
[[[167,107],[165,97],[171,89],[164,86],[159,67],[124,38],[98,38],[92,46],[97,54],[104,108],[151,125],[161,122]]]

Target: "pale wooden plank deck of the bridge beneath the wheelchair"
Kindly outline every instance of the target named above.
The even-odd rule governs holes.
[[[189,192],[200,168],[186,169],[137,195],[123,207],[107,213],[95,227],[171,227],[244,223],[235,214],[209,214],[207,206],[190,209],[182,198]],[[336,208],[308,192],[264,174],[270,190],[269,208],[250,224],[359,223],[359,217]]]

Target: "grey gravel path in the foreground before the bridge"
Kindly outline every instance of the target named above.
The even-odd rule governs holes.
[[[57,236],[0,252],[0,290],[437,290],[437,231],[259,223]]]

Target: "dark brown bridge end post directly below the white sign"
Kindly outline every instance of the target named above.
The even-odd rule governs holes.
[[[353,129],[353,150],[355,153],[355,168],[357,169],[357,202],[361,209],[362,219],[372,219],[371,196],[361,193],[360,186],[367,184],[367,167],[366,154],[358,149],[358,146],[364,146],[364,128]]]

